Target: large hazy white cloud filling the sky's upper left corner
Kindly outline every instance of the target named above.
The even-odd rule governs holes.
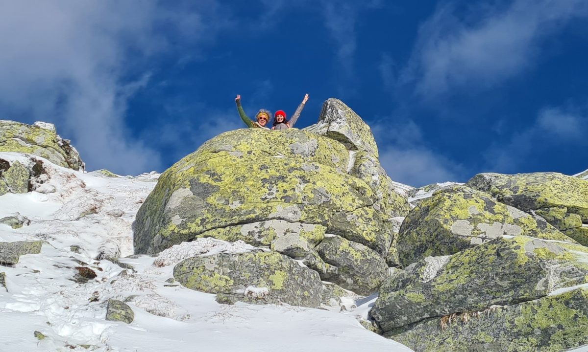
[[[3,2],[2,117],[9,118],[10,111],[56,123],[90,169],[136,174],[158,168],[155,148],[129,133],[126,103],[149,82],[149,72],[140,69],[147,59],[175,45],[210,40],[226,25],[225,19],[215,20],[215,2],[199,4],[202,8],[138,0]]]

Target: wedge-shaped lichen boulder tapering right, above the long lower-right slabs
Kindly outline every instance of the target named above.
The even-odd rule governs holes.
[[[403,266],[427,256],[452,255],[502,235],[526,235],[576,243],[573,239],[489,194],[462,185],[440,188],[406,217],[397,250]]]

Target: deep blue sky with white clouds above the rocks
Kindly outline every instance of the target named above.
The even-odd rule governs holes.
[[[0,118],[89,170],[163,171],[253,115],[337,97],[410,185],[588,168],[588,2],[0,1]]]

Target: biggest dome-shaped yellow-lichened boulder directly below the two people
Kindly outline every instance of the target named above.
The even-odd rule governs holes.
[[[345,172],[347,157],[342,144],[295,129],[223,133],[159,177],[136,217],[135,252],[272,219],[322,225],[387,251],[391,231],[372,189]]]

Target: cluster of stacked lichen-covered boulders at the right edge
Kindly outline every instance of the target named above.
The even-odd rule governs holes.
[[[480,174],[434,188],[403,222],[405,269],[385,280],[370,311],[384,336],[417,352],[586,344],[588,182]]]

